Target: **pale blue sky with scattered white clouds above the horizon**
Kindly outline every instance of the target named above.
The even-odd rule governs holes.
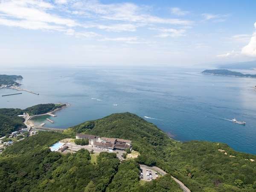
[[[0,66],[256,60],[255,0],[0,0]]]

